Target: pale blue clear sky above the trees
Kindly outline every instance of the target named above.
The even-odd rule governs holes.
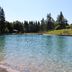
[[[60,11],[72,23],[72,0],[0,0],[7,21],[23,22],[46,19],[48,13],[56,20]]]

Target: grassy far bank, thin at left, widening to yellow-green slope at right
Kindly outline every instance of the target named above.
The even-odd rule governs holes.
[[[12,35],[14,34],[38,34],[38,35],[42,35],[42,34],[50,34],[50,35],[67,35],[67,36],[72,36],[72,29],[61,29],[61,30],[50,30],[50,31],[45,31],[45,32],[30,32],[30,33],[12,33]],[[5,34],[6,35],[6,34]],[[11,35],[11,33],[8,33],[7,35]]]

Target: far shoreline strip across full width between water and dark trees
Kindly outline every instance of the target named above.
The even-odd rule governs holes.
[[[57,32],[58,31],[58,32]],[[69,32],[69,31],[68,31]],[[72,33],[66,33],[65,31],[63,30],[55,30],[55,31],[48,31],[48,32],[37,32],[37,33],[34,33],[34,32],[31,32],[31,33],[5,33],[5,34],[0,34],[1,35],[18,35],[18,34],[37,34],[37,35],[55,35],[55,36],[72,36]]]

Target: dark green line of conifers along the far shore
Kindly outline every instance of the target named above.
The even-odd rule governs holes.
[[[51,13],[47,14],[46,19],[42,18],[41,21],[14,21],[8,22],[5,20],[5,13],[0,7],[0,34],[4,33],[38,33],[50,30],[67,29],[72,25],[68,24],[68,20],[64,17],[63,13],[57,16],[56,21],[52,18]]]

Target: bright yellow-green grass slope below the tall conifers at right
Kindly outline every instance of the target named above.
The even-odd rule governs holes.
[[[47,34],[72,35],[72,29],[52,30],[52,31],[48,31]]]

